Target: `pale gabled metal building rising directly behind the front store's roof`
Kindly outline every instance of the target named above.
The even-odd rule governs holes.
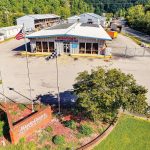
[[[72,16],[67,19],[68,23],[90,23],[90,24],[98,24],[102,27],[106,27],[106,17],[102,17],[100,15],[94,13],[84,13],[79,16]]]

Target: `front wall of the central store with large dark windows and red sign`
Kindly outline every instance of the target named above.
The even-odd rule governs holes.
[[[59,54],[102,54],[105,46],[104,40],[77,38],[77,37],[53,37],[30,40],[32,52],[53,52]]]

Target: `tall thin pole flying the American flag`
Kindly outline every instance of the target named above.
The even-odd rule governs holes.
[[[24,24],[23,24],[23,33],[24,33],[24,42],[25,42],[25,50],[26,50],[26,62],[27,62],[27,72],[28,72],[28,81],[29,81],[29,91],[30,91],[30,98],[32,99],[31,79],[30,79],[30,70],[29,70],[29,59],[28,59],[28,48],[27,48],[27,41],[26,41],[26,37],[25,37]],[[33,100],[32,100],[32,112],[34,112],[34,102],[33,102]]]

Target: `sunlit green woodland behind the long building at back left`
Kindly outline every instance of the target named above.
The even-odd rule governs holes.
[[[54,13],[67,18],[91,11],[92,5],[84,0],[0,0],[0,26],[14,25],[25,14]]]

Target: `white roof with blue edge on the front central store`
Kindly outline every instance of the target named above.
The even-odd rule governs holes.
[[[67,26],[67,27],[64,27]],[[57,28],[58,27],[58,28]],[[84,38],[94,38],[100,40],[111,40],[111,37],[106,33],[101,25],[94,24],[61,24],[52,28],[34,32],[26,37],[31,38],[48,38],[54,36],[75,36]]]

